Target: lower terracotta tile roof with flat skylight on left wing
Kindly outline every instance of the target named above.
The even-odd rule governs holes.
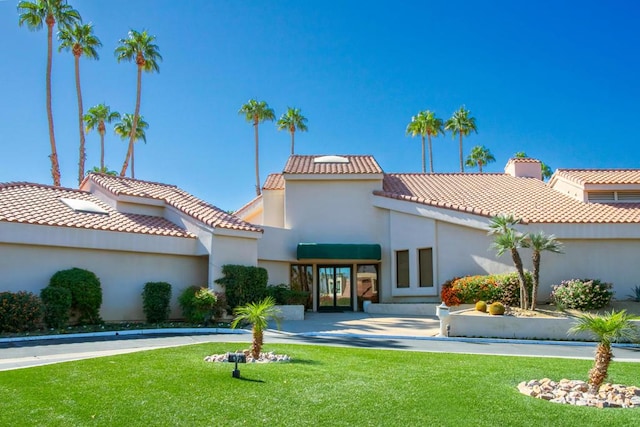
[[[106,214],[77,212],[61,198],[92,202]],[[0,184],[0,221],[173,237],[195,236],[159,217],[121,213],[91,193],[27,182]]]

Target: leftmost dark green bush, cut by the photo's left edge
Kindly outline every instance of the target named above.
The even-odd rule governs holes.
[[[0,332],[35,331],[42,325],[42,301],[31,292],[0,292]]]

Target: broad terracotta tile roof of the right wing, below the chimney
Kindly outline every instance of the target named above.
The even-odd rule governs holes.
[[[506,174],[387,174],[374,194],[525,223],[638,223],[640,204],[584,203],[533,178]]]

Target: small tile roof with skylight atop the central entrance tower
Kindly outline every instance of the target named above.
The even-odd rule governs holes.
[[[315,159],[342,158],[347,162],[314,162]],[[298,156],[289,157],[283,173],[287,174],[376,174],[383,173],[373,156]]]

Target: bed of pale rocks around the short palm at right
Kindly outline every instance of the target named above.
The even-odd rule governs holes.
[[[555,382],[543,378],[521,382],[518,384],[518,391],[553,403],[597,408],[640,407],[640,388],[620,384],[603,384],[594,395],[589,393],[589,384],[584,381],[562,379]]]

